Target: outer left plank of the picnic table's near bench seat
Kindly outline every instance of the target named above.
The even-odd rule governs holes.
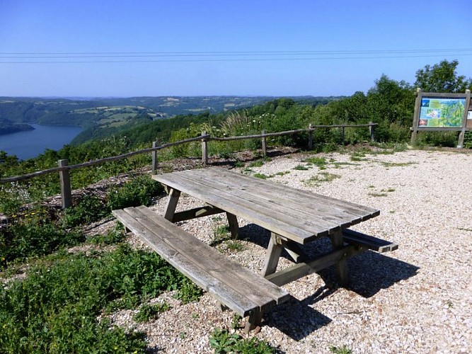
[[[207,271],[195,267],[192,261],[189,261],[172,246],[162,242],[159,236],[146,229],[146,227],[124,210],[113,210],[113,215],[134,234],[139,235],[151,249],[159,253],[173,267],[180,270],[181,273],[190,278],[195,284],[212,294],[237,314],[247,316],[254,312],[255,309],[258,309],[258,304],[251,302],[246,297],[241,297],[238,292],[219,282]]]

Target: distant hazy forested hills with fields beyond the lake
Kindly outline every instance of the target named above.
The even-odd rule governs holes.
[[[0,97],[0,135],[33,129],[28,124],[74,125],[86,130],[76,139],[101,139],[143,123],[176,115],[223,113],[274,99],[268,96],[195,96],[132,98],[11,98]],[[330,98],[299,97],[326,103]],[[98,129],[99,128],[99,129]]]

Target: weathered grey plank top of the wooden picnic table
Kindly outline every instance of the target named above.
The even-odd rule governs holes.
[[[214,167],[152,178],[299,244],[380,214],[372,207]]]

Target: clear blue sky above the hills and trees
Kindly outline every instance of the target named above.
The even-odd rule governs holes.
[[[0,96],[339,96],[458,59],[470,0],[0,0]]]

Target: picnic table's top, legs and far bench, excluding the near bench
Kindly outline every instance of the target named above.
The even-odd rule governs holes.
[[[226,212],[234,237],[238,236],[238,217],[269,230],[271,237],[262,275],[276,285],[335,265],[338,281],[346,286],[348,257],[366,249],[393,251],[397,247],[348,229],[379,215],[379,210],[372,207],[216,167],[152,178],[166,187],[169,198],[164,217],[172,222]],[[175,212],[180,193],[192,195],[205,204]],[[323,236],[330,238],[333,250],[316,259],[307,258],[303,245]],[[297,264],[276,272],[283,249]]]

